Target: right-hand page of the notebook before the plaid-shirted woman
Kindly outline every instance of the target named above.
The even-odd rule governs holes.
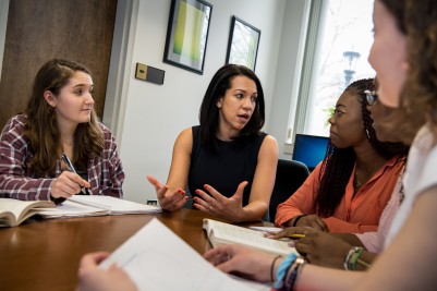
[[[109,210],[111,215],[155,214],[161,211],[158,206],[104,195],[74,195],[69,201]]]

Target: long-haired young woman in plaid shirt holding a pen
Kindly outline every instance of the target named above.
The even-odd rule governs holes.
[[[61,59],[43,65],[25,114],[9,120],[0,136],[0,197],[123,196],[117,144],[97,121],[93,90],[84,65]]]

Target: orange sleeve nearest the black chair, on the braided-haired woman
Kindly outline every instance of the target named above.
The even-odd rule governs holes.
[[[315,214],[314,198],[316,191],[320,183],[319,173],[320,166],[314,169],[308,175],[305,182],[302,184],[296,192],[294,192],[286,202],[278,205],[278,209],[275,217],[275,225],[278,227],[287,227],[287,222],[298,215],[312,215]]]

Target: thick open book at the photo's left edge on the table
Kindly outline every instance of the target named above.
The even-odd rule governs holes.
[[[0,198],[0,227],[16,227],[31,216],[37,215],[41,208],[53,207],[49,201],[19,201]]]

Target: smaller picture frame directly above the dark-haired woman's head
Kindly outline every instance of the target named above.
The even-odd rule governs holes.
[[[243,64],[255,71],[259,38],[258,28],[233,15],[226,63]]]

